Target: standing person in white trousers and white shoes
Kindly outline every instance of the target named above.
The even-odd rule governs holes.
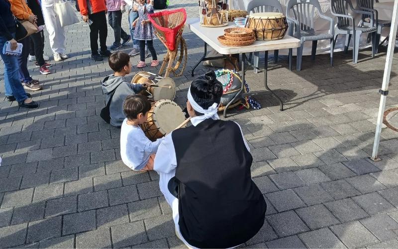
[[[49,34],[50,47],[55,61],[68,59],[65,54],[65,30],[61,26],[59,17],[55,13],[56,0],[41,0],[44,23]]]

